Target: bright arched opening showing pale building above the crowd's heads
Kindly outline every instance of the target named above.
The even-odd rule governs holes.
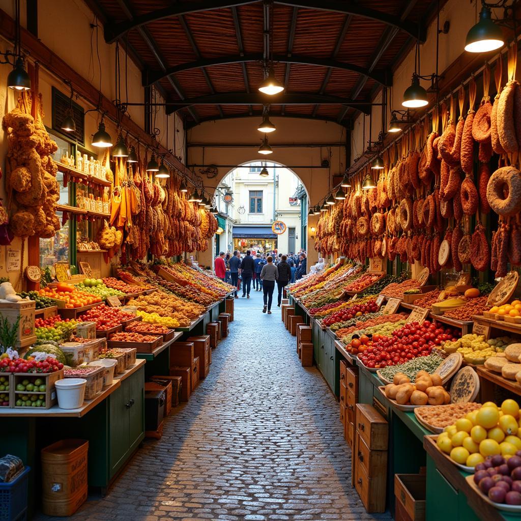
[[[228,171],[215,195],[221,219],[227,216],[216,251],[307,249],[308,193],[293,170],[274,161],[247,161]]]

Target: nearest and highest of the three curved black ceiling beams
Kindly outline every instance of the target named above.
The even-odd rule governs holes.
[[[181,0],[173,3],[168,7],[156,9],[150,13],[135,17],[118,23],[107,23],[104,27],[105,41],[113,43],[127,31],[144,26],[147,23],[171,18],[173,16],[187,15],[190,13],[199,13],[201,11],[209,11],[213,9],[224,9],[232,6],[253,4],[258,0],[204,0],[202,2],[190,2]],[[360,4],[352,2],[344,2],[342,0],[276,0],[278,4],[289,5],[292,7],[302,7],[307,9],[318,9],[322,11],[333,11],[334,13],[343,13],[345,15],[361,16],[371,20],[377,20],[388,26],[396,27],[401,31],[405,31],[414,38],[419,38],[421,42],[425,42],[426,28],[419,27],[413,22],[401,20],[399,17],[383,13],[377,9],[371,9]]]

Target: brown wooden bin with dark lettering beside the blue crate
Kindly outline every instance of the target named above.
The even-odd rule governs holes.
[[[86,440],[61,440],[42,450],[42,510],[70,516],[87,498]]]

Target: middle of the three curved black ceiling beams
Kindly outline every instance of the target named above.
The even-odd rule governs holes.
[[[217,58],[201,58],[195,61],[190,61],[188,63],[179,64],[173,67],[165,68],[162,71],[144,71],[142,75],[142,83],[143,86],[150,85],[155,83],[156,81],[164,78],[165,76],[170,76],[172,74],[176,74],[178,72],[182,72],[190,69],[198,69],[201,67],[212,67],[214,65],[227,65],[233,63],[247,63],[249,61],[262,61],[263,54],[246,54],[246,55],[237,55],[237,56],[219,56]],[[368,70],[364,67],[360,67],[358,65],[344,63],[343,61],[338,61],[331,58],[316,58],[314,56],[298,56],[298,55],[275,55],[273,60],[278,63],[286,63],[286,64],[301,64],[301,65],[311,65],[316,67],[329,67],[332,69],[341,69],[341,70],[349,70],[351,72],[356,72],[359,75],[365,75],[368,78],[375,80],[376,82],[390,86],[390,81],[387,78],[386,71],[375,71]],[[373,67],[374,69],[374,67]]]

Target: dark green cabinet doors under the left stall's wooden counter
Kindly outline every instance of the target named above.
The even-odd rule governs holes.
[[[145,431],[144,374],[137,371],[109,397],[109,479],[134,452]]]

